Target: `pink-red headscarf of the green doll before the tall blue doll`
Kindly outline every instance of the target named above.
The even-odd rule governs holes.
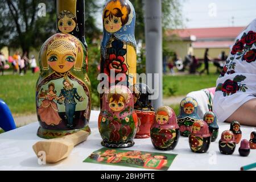
[[[125,107],[123,107],[122,110],[113,111],[112,109],[110,109],[109,102],[110,102],[110,98],[112,99],[113,97],[124,98]],[[110,111],[115,116],[118,116],[118,117],[121,116],[122,118],[127,117],[127,115],[133,114],[133,111],[134,111],[133,94],[131,93],[129,88],[122,85],[115,85],[110,87],[109,90],[107,90],[103,96],[101,111],[105,111],[105,110]],[[110,117],[110,119],[111,118],[112,117]]]

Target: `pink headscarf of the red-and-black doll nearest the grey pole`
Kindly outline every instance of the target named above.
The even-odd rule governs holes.
[[[157,121],[158,115],[163,115],[168,117],[168,121],[164,124],[159,124]],[[158,127],[160,129],[179,129],[179,125],[177,125],[177,118],[174,110],[168,106],[159,107],[158,110],[155,111],[154,123],[152,127]]]

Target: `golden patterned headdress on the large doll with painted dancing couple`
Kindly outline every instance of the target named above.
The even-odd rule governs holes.
[[[81,71],[82,62],[84,61],[84,51],[80,41],[70,34],[55,34],[49,38],[41,49],[41,63],[43,70],[48,70],[47,55],[55,51],[56,53],[63,54],[65,52],[73,52],[76,55],[74,70]]]

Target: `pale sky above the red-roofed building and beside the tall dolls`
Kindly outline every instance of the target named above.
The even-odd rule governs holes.
[[[247,26],[256,18],[256,0],[179,1],[185,28]],[[101,12],[98,17],[97,24],[102,27]]]

